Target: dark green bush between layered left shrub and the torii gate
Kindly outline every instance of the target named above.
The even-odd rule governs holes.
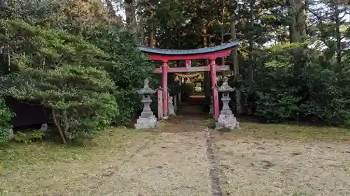
[[[107,52],[109,61],[114,63],[106,66],[117,90],[113,91],[120,112],[113,119],[114,123],[125,123],[134,117],[139,110],[141,98],[137,90],[144,86],[144,80],[151,80],[155,68],[146,54],[137,49],[133,36],[127,31],[116,27],[97,27],[91,41],[94,45]],[[116,41],[118,40],[118,41]],[[155,81],[150,81],[155,86]]]

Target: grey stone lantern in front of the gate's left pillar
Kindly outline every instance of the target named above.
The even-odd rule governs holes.
[[[155,93],[155,90],[151,89],[148,85],[148,79],[144,81],[144,88],[137,91],[142,95],[141,103],[144,103],[144,109],[142,110],[141,116],[137,119],[137,123],[134,125],[136,129],[150,129],[158,128],[159,123],[155,115],[151,110],[151,94]]]

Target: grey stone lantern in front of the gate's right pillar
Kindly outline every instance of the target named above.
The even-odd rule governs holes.
[[[229,93],[235,91],[235,88],[231,88],[228,85],[228,77],[223,77],[223,85],[221,87],[217,87],[218,92],[223,93],[223,97],[221,101],[223,102],[223,109],[220,112],[218,117],[218,121],[216,122],[216,130],[221,128],[228,128],[230,130],[239,128],[239,122],[236,117],[232,114],[228,103],[230,103],[230,95]]]

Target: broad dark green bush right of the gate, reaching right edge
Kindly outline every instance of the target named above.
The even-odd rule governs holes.
[[[300,116],[347,126],[350,119],[348,68],[336,73],[332,67],[319,63],[308,50],[304,56],[294,59],[294,47],[270,51],[266,59],[262,59],[255,75],[255,114],[272,122]]]

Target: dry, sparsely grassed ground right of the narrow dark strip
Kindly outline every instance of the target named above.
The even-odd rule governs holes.
[[[216,133],[224,195],[350,195],[347,130],[242,123]]]

